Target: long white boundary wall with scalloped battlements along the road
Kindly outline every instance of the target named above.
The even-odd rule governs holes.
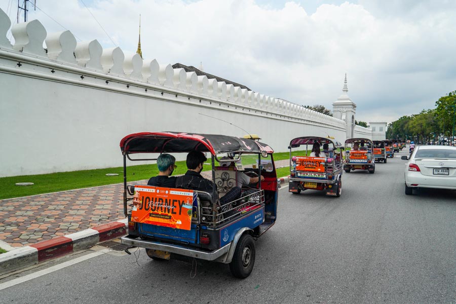
[[[345,141],[345,121],[297,104],[48,34],[37,20],[13,26],[13,46],[10,25],[0,10],[0,176],[119,167],[119,142],[135,132],[245,135],[203,115],[276,151],[303,135]]]

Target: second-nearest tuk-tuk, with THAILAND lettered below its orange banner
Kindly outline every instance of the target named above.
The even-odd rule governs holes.
[[[328,144],[319,157],[308,156],[308,146]],[[306,156],[292,156],[292,148],[306,145]],[[290,182],[288,192],[299,194],[306,189],[325,191],[340,197],[342,193],[342,148],[332,139],[318,136],[297,137],[290,141]],[[338,151],[337,151],[338,150]]]

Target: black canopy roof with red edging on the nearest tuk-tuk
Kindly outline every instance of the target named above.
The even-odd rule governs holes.
[[[142,132],[125,136],[120,142],[122,154],[182,153],[193,150],[212,155],[227,152],[274,153],[267,144],[226,135],[183,132]]]

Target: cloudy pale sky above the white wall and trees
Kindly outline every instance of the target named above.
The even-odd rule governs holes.
[[[69,29],[77,41],[124,52],[136,51],[141,14],[144,59],[202,62],[208,73],[298,104],[332,109],[347,73],[359,121],[391,122],[456,90],[453,0],[36,0],[36,7],[29,20],[48,32]],[[0,9],[17,22],[16,0],[0,0]]]

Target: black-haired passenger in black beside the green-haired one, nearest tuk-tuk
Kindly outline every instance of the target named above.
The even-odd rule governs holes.
[[[176,178],[176,187],[183,189],[199,190],[212,193],[214,185],[212,181],[201,176],[203,165],[207,158],[200,151],[191,151],[187,155],[186,165],[188,171],[185,175]],[[227,192],[221,199],[222,205],[237,200],[241,197],[241,188],[236,186]]]

